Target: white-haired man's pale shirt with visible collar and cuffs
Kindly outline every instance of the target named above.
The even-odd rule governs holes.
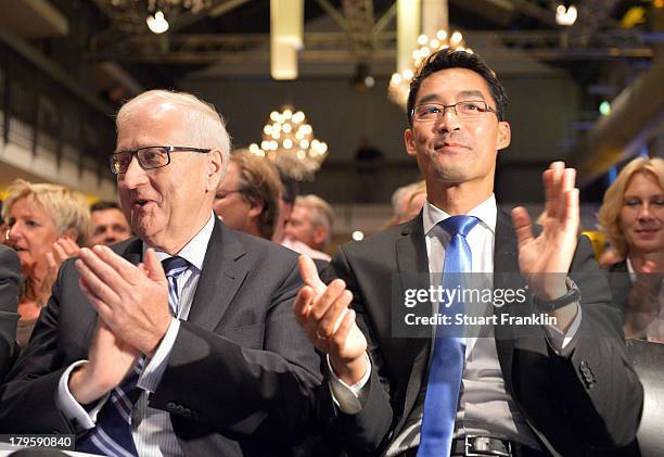
[[[156,390],[166,370],[170,352],[180,329],[180,319],[187,320],[189,317],[214,226],[215,217],[213,214],[199,233],[177,254],[190,263],[190,267],[179,275],[176,280],[178,296],[180,297],[179,313],[177,318],[173,318],[166,334],[157,346],[154,357],[146,360],[148,364],[137,382],[137,386],[144,392],[139,397],[131,414],[131,435],[133,436],[138,455],[141,457],[183,456],[178,439],[173,430],[169,414],[148,406],[148,395]],[[146,249],[148,245],[143,243],[143,254]],[[170,257],[169,254],[158,251],[156,256],[159,261]],[[87,360],[75,361],[65,370],[60,378],[55,403],[67,419],[76,421],[82,429],[92,429],[97,422],[97,415],[108,398],[110,393],[102,397],[90,411],[86,411],[76,402],[68,388],[69,375],[74,368],[86,363]]]

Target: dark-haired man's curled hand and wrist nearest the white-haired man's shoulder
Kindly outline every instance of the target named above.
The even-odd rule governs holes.
[[[299,274],[306,285],[293,304],[297,322],[317,350],[330,357],[330,365],[346,384],[357,383],[367,372],[367,339],[355,323],[355,312],[348,306],[353,293],[341,279],[325,287],[318,277],[314,261],[299,256]]]

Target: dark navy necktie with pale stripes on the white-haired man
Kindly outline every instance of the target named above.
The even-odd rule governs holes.
[[[168,257],[162,265],[168,280],[170,314],[177,316],[180,305],[177,278],[189,268],[189,262],[182,257]],[[138,456],[131,436],[131,411],[142,392],[136,384],[144,365],[145,357],[139,357],[120,385],[111,391],[111,396],[98,414],[94,429],[76,443],[76,450],[106,456]]]

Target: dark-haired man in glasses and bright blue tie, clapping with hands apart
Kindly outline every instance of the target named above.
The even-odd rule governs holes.
[[[643,391],[605,277],[577,233],[575,170],[556,162],[544,173],[548,217],[536,232],[525,208],[510,217],[496,202],[506,105],[477,54],[431,54],[411,80],[404,134],[426,180],[423,212],[341,246],[328,285],[301,257],[307,287],[293,312],[328,355],[321,422],[352,455],[604,457],[635,437]],[[489,274],[489,291],[527,292],[489,297],[484,316],[496,320],[450,334],[438,317],[475,309],[405,297],[430,296],[436,282],[461,290],[459,272]],[[518,316],[547,320],[503,322]]]

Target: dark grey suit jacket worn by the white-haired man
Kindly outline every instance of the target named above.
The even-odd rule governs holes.
[[[114,246],[140,262],[140,240]],[[1,389],[4,433],[74,433],[54,403],[68,365],[87,358],[97,315],[73,261]],[[290,455],[307,433],[319,358],[291,312],[297,255],[216,221],[189,314],[150,406],[170,412],[190,456]]]

